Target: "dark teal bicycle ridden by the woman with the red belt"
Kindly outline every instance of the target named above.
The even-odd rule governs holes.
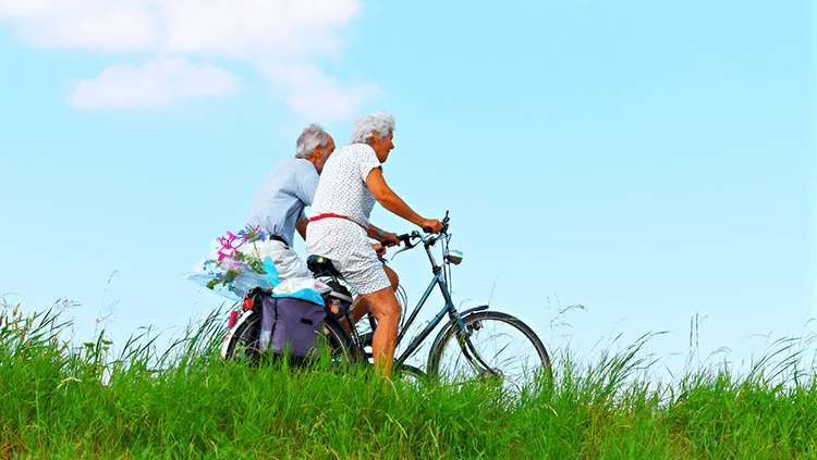
[[[500,311],[488,310],[489,306],[479,306],[458,311],[449,288],[451,265],[462,262],[462,252],[449,249],[451,234],[448,213],[442,220],[442,231],[437,235],[423,235],[419,232],[400,235],[398,239],[404,245],[394,253],[423,246],[431,264],[432,278],[411,314],[403,318],[399,327],[395,347],[400,347],[408,328],[435,287],[439,287],[446,301],[443,308],[415,335],[406,348],[394,359],[393,370],[397,374],[408,374],[418,378],[437,378],[447,382],[459,382],[476,378],[478,381],[495,381],[505,388],[521,390],[529,387],[540,378],[551,378],[550,358],[536,333],[521,320]],[[442,247],[442,265],[438,264],[431,248],[440,241]],[[351,307],[353,296],[344,286],[341,274],[331,261],[318,256],[309,256],[307,265],[316,278],[322,279],[332,288],[325,295],[327,301],[327,320],[324,327],[322,349],[336,362],[352,365],[369,362],[371,353],[366,350],[371,346],[371,337],[377,327],[374,315],[367,313],[370,331],[361,334],[357,327],[347,331],[341,320],[347,324],[352,321]],[[333,311],[334,310],[334,311]],[[422,344],[442,323],[444,316],[448,323],[436,336],[426,364],[426,372],[408,364],[406,361],[414,356]],[[243,322],[243,327],[225,339],[222,357],[254,361],[260,356],[255,347],[259,321]],[[236,326],[233,326],[236,327]],[[254,333],[255,331],[255,333]],[[255,335],[254,335],[255,334]]]

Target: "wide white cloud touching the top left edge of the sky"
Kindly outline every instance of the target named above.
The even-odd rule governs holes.
[[[0,0],[44,48],[254,59],[336,54],[359,0]]]

